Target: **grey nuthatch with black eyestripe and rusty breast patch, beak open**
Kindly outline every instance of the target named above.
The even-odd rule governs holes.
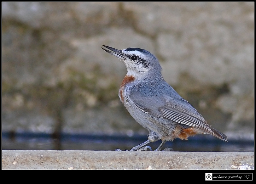
[[[227,142],[226,135],[208,125],[202,115],[163,79],[156,56],[141,48],[118,50],[102,46],[104,51],[125,64],[127,74],[119,89],[120,101],[134,120],[149,132],[148,140],[130,151],[152,150],[146,145],[157,140],[162,142],[154,151],[161,151],[167,141],[188,140],[196,134],[210,134]]]

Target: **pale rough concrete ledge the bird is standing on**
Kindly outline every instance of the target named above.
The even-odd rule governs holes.
[[[2,169],[254,169],[254,152],[3,150]]]

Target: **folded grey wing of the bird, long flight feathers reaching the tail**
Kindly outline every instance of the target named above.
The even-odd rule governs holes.
[[[133,103],[145,113],[198,128],[226,141],[226,136],[211,128],[201,114],[182,97],[161,95],[142,98],[138,94],[131,94],[130,97]]]

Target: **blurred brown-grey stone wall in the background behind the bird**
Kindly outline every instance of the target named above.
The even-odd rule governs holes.
[[[119,102],[126,68],[102,44],[150,51],[214,128],[253,133],[253,2],[3,2],[2,130],[147,134]]]

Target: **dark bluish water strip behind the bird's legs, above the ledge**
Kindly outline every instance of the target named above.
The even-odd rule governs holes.
[[[97,136],[82,134],[61,134],[58,136],[43,133],[2,133],[3,150],[129,150],[145,142],[147,136]],[[149,143],[153,150],[161,141]],[[248,152],[254,151],[253,140],[228,140],[224,142],[209,135],[189,137],[189,140],[175,139],[166,142],[164,148],[173,151],[209,152]]]

